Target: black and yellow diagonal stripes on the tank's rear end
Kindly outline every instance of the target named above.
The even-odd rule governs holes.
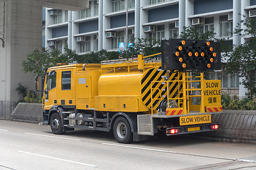
[[[156,67],[149,69],[142,78],[142,101],[148,108],[151,108],[151,95],[153,100],[153,108],[156,110],[158,108],[159,101],[167,98],[167,84],[162,82],[155,82],[152,84],[152,94],[150,89],[151,81],[164,81],[164,77],[167,76],[166,71],[161,70],[161,67]],[[182,79],[181,74],[178,72],[174,72],[169,77],[170,80],[174,81],[177,79]],[[182,97],[182,84],[181,82],[178,83],[171,83],[169,84],[169,96],[170,98],[174,98],[178,95]]]

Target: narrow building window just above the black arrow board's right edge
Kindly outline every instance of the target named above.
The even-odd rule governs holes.
[[[231,37],[233,33],[233,21],[228,21],[228,16],[220,16],[220,37]]]

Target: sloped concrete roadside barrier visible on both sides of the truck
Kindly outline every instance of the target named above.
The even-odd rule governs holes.
[[[42,112],[39,103],[19,103],[11,113],[11,119],[41,122]],[[196,136],[230,142],[256,142],[256,111],[224,110],[223,113],[213,115],[212,122],[218,123],[220,130]]]

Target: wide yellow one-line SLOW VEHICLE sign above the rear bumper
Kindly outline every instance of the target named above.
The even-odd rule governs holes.
[[[203,123],[211,123],[210,115],[190,115],[182,116],[180,119],[180,125],[197,125]]]

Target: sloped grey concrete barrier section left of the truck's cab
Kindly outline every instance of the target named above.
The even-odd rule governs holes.
[[[18,103],[11,113],[12,120],[28,120],[32,122],[43,121],[43,107],[41,103]]]

